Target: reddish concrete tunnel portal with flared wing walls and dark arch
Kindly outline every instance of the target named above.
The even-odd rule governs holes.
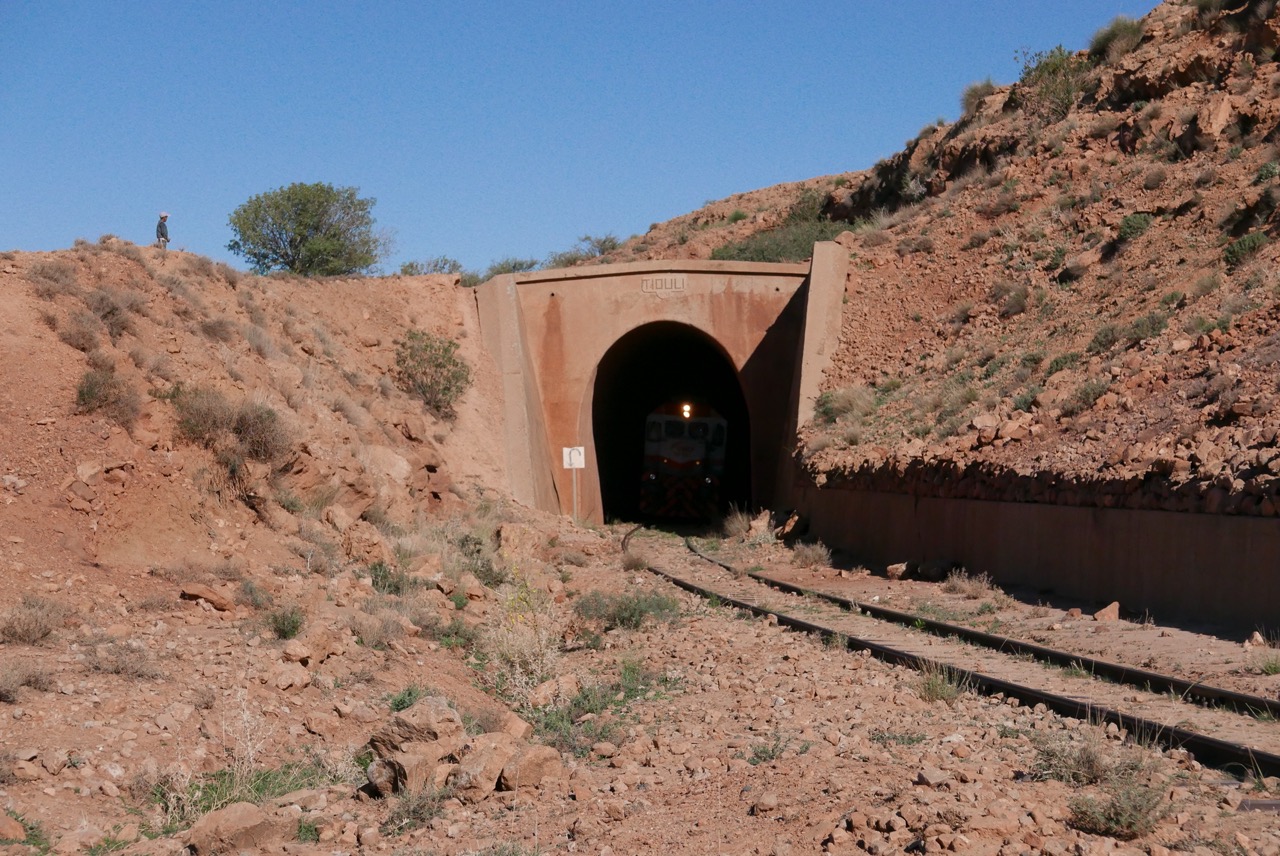
[[[724,453],[722,505],[790,504],[792,438],[840,340],[847,266],[849,251],[823,242],[810,262],[648,260],[504,274],[477,287],[512,496],[593,522],[635,519],[641,504],[707,509],[712,490],[696,490],[696,507],[684,502],[703,440],[712,473]],[[650,462],[659,461],[652,475],[667,487],[655,503],[655,480],[643,479],[655,432],[645,422],[681,397],[724,422],[695,415],[687,434],[663,422],[666,450],[649,440]]]

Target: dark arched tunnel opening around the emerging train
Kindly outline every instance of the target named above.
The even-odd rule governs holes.
[[[676,512],[672,522],[709,519],[731,504],[751,505],[751,429],[737,371],[707,334],[659,321],[623,335],[596,367],[591,425],[605,519],[666,516],[641,503],[645,422],[663,406],[678,409],[686,403],[695,413],[713,408],[724,420],[724,464],[712,505],[699,514]]]

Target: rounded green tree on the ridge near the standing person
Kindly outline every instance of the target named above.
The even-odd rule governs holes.
[[[294,183],[259,193],[232,211],[236,238],[227,248],[260,274],[289,270],[303,276],[365,273],[387,252],[374,233],[376,200],[358,188]]]

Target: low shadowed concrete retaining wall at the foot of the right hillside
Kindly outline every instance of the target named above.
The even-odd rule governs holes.
[[[1004,585],[1119,600],[1157,621],[1280,626],[1274,519],[915,498],[804,487],[797,508],[823,543],[869,566],[948,559]]]

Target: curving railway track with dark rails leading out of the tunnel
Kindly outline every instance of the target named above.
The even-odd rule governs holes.
[[[780,626],[867,650],[888,663],[942,672],[977,692],[1114,723],[1137,740],[1183,749],[1202,764],[1240,777],[1280,775],[1275,700],[847,600],[739,571],[689,539],[641,532],[640,527],[627,532],[623,550],[640,535],[650,573],[708,600],[772,617]]]

